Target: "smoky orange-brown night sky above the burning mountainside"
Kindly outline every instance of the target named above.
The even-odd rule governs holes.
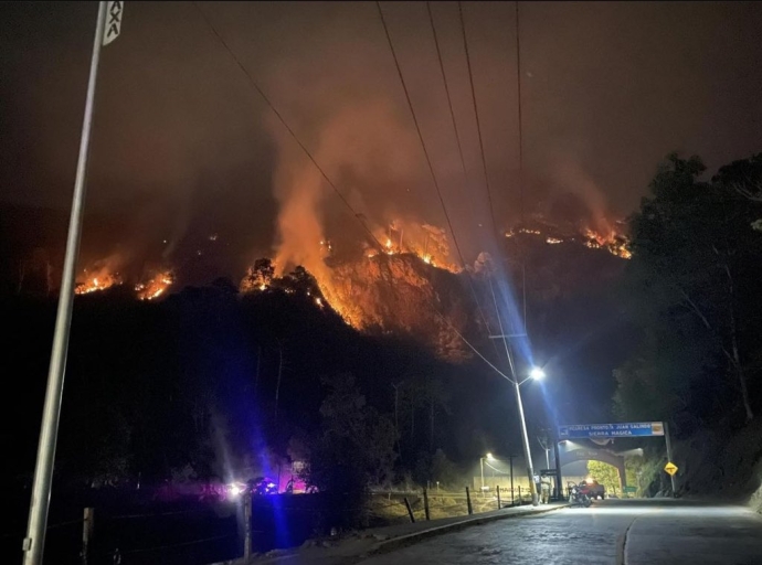
[[[458,4],[431,7],[465,177],[426,4],[381,6],[456,233],[475,254],[487,199]],[[760,3],[519,6],[527,214],[573,192],[622,217],[669,151],[701,156],[710,174],[762,147]],[[102,53],[87,195],[88,211],[124,220],[114,244],[167,239],[171,258],[183,239],[216,232],[224,270],[284,245],[307,214],[284,217],[294,202],[309,204],[305,225],[320,235],[357,227],[199,8],[372,225],[445,225],[374,2],[127,2]],[[3,203],[68,210],[96,11],[0,4]],[[466,2],[463,13],[502,224],[520,214],[516,8]]]

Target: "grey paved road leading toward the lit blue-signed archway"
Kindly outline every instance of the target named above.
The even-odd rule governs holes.
[[[605,500],[472,526],[362,563],[762,565],[762,516],[680,500]]]

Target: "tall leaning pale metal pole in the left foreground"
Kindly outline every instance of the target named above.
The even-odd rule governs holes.
[[[47,510],[50,507],[53,465],[55,461],[55,444],[59,436],[59,419],[61,416],[61,398],[63,395],[64,373],[66,370],[68,333],[72,324],[74,270],[76,268],[76,259],[80,252],[80,234],[82,231],[82,216],[85,202],[85,178],[87,173],[89,134],[93,125],[93,107],[95,104],[95,83],[98,74],[104,24],[106,22],[106,4],[107,2],[98,2],[98,18],[95,28],[95,41],[93,43],[93,57],[89,65],[85,117],[82,125],[82,138],[80,140],[80,157],[77,158],[76,178],[74,181],[72,214],[68,220],[66,255],[61,279],[59,308],[55,317],[55,333],[53,335],[51,363],[47,372],[45,404],[42,411],[42,425],[38,445],[38,458],[34,468],[32,498],[30,501],[29,524],[27,527],[27,537],[24,537],[22,547],[24,552],[23,565],[41,565],[45,545]]]

